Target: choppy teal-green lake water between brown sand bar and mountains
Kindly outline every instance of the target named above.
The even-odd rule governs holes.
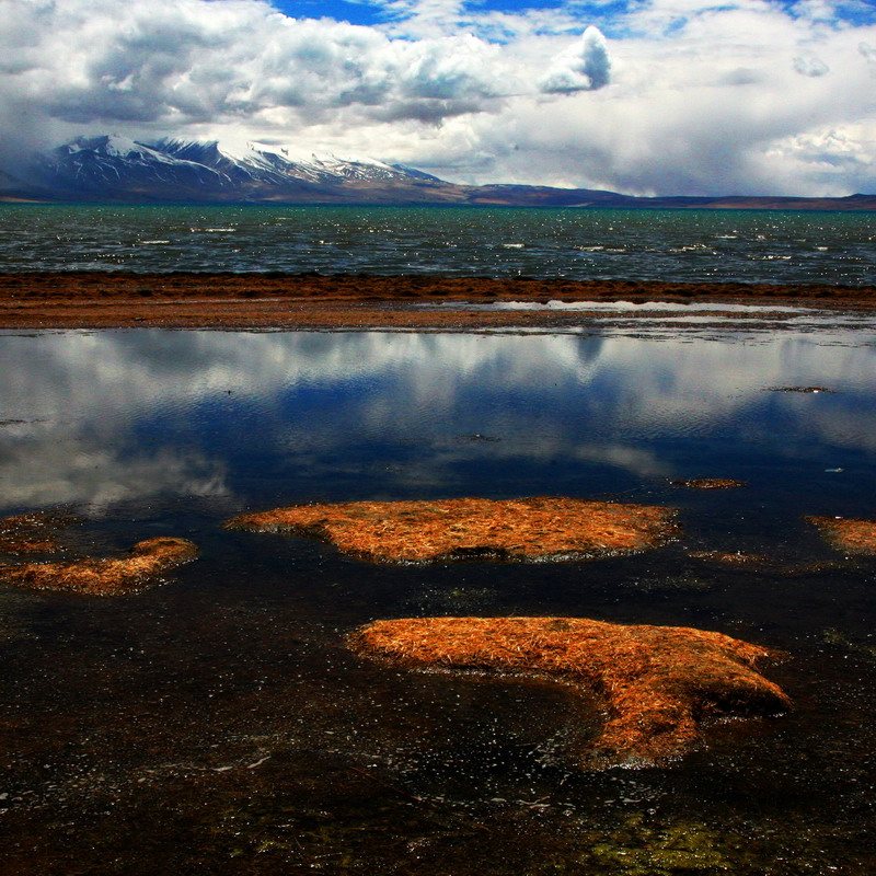
[[[873,214],[0,205],[3,270],[874,283]]]

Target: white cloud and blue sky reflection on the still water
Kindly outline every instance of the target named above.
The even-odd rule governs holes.
[[[647,494],[752,466],[868,471],[876,449],[873,347],[792,332],[66,332],[3,336],[0,367],[10,509]],[[764,391],[807,384],[837,392]]]

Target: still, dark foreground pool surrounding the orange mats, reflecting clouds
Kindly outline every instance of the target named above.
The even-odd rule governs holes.
[[[201,558],[122,599],[0,585],[3,873],[869,874],[867,561],[802,515],[874,516],[876,332],[0,336],[0,514],[72,506],[112,552]],[[822,393],[774,388],[820,385]],[[721,476],[696,493],[669,479]],[[226,532],[310,500],[563,494],[683,535],[593,563],[382,567]],[[376,618],[567,614],[784,649],[784,718],[667,769],[581,772],[558,688],[364,665]]]

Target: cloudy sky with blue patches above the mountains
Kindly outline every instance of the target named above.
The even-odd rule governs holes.
[[[0,0],[0,166],[82,134],[457,183],[876,192],[876,0]]]

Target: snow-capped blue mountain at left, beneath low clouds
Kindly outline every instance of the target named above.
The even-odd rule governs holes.
[[[316,189],[332,200],[346,199],[332,198],[332,189],[349,184],[440,184],[429,174],[374,159],[318,155],[262,143],[239,151],[216,141],[146,143],[118,135],[77,137],[39,155],[28,176],[58,194],[113,200],[286,200],[296,193],[315,196]]]

